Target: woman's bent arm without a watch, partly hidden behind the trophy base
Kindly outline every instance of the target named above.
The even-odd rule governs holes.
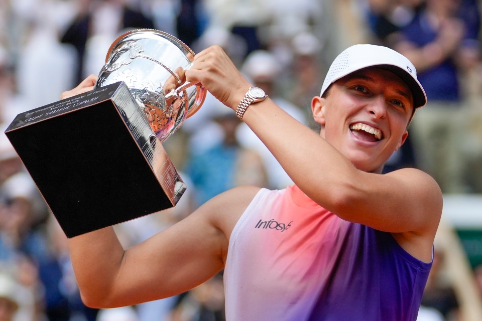
[[[91,90],[87,77],[68,98]],[[243,187],[208,201],[184,220],[124,249],[112,227],[69,239],[76,279],[85,304],[133,305],[182,293],[224,267],[230,232],[259,188]]]

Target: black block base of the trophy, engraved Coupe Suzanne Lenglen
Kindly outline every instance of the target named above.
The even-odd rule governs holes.
[[[170,208],[186,188],[124,83],[20,114],[6,135],[69,238]]]

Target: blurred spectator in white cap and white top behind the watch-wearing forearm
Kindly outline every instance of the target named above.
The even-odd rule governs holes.
[[[265,93],[298,121],[306,124],[305,113],[297,105],[292,104],[278,93],[278,79],[283,72],[275,56],[266,50],[257,50],[246,57],[241,71],[252,81],[254,86],[262,88]],[[242,123],[237,129],[236,136],[241,145],[256,150],[263,158],[268,171],[268,184],[272,188],[285,188],[292,184],[276,158],[256,136],[253,131]]]

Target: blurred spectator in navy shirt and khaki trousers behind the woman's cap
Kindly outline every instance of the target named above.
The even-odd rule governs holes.
[[[466,101],[459,77],[478,61],[479,27],[474,1],[426,0],[394,47],[413,62],[427,93],[428,104],[417,111],[410,133],[419,166],[444,193],[466,191],[461,156]]]

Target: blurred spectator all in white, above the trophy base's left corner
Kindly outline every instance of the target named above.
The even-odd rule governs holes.
[[[58,42],[59,31],[73,16],[73,2],[63,0],[11,1],[17,48],[10,48],[15,63],[14,115],[59,100],[74,83],[74,51]],[[20,25],[20,27],[19,27]],[[42,81],[39,81],[42,79]]]

